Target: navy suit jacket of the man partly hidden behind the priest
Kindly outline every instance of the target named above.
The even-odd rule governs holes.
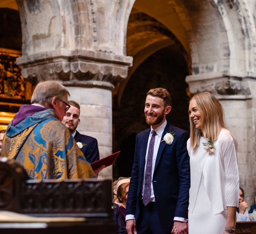
[[[88,162],[92,163],[99,160],[99,149],[96,138],[80,134],[77,131],[74,139],[76,142],[86,143],[86,145],[81,148],[81,151],[84,153],[84,156]]]

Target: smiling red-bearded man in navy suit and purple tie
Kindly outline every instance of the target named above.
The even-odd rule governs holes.
[[[147,92],[144,113],[151,127],[136,136],[126,205],[128,234],[188,233],[189,133],[166,121],[170,111],[166,89]]]

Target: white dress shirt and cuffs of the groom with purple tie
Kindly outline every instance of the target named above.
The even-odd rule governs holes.
[[[157,152],[158,152],[158,148],[161,142],[161,138],[164,132],[164,129],[167,125],[167,121],[165,120],[162,125],[160,125],[158,128],[155,129],[156,135],[155,135],[155,144],[154,144],[154,151],[153,151],[153,159],[152,159],[152,173],[151,173],[151,195],[150,195],[150,201],[155,202],[155,195],[154,195],[154,189],[153,189],[153,173],[155,170],[155,164],[156,164],[156,158],[157,158]],[[143,179],[142,179],[142,189],[141,189],[141,195],[143,197],[143,192],[144,192],[144,186],[145,186],[145,172],[146,172],[146,165],[147,165],[147,153],[149,151],[149,142],[151,140],[151,136],[152,136],[152,130],[154,130],[152,128],[152,126],[150,127],[150,134],[149,134],[149,139],[147,140],[147,150],[146,150],[146,155],[145,155],[145,167],[144,167],[144,173],[143,173]],[[132,214],[128,214],[125,216],[125,221],[129,220],[129,219],[135,219],[134,215]],[[181,217],[174,217],[173,220],[177,220],[177,221],[181,221],[181,222],[187,222],[188,220],[185,218],[181,218]]]

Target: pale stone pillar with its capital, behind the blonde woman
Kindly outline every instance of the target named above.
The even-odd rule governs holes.
[[[256,77],[249,73],[218,72],[186,77],[191,94],[210,92],[221,102],[225,123],[238,142],[239,185],[245,201],[254,203],[256,191]],[[252,91],[252,92],[251,92]]]

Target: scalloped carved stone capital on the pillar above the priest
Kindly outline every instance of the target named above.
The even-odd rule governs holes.
[[[22,68],[22,75],[33,84],[45,80],[59,80],[67,86],[76,84],[113,88],[127,77],[132,57],[84,50],[68,52],[60,49],[22,56],[17,59],[17,64]]]

